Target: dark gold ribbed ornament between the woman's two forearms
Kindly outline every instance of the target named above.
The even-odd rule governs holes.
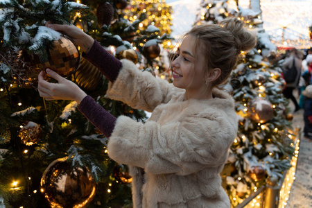
[[[94,92],[103,84],[104,76],[94,64],[88,62],[85,58],[81,58],[77,70],[72,74],[72,80],[81,89]]]

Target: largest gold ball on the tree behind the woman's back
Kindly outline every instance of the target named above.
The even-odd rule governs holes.
[[[272,104],[266,98],[254,98],[248,103],[248,116],[255,122],[266,123],[273,114]]]

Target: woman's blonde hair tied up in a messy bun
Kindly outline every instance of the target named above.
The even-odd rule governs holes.
[[[220,25],[193,26],[184,37],[187,35],[195,37],[196,48],[200,47],[206,57],[205,77],[208,77],[209,69],[221,69],[220,76],[213,82],[214,87],[227,82],[241,51],[248,51],[257,44],[256,35],[247,31],[243,21],[236,18],[222,21]]]

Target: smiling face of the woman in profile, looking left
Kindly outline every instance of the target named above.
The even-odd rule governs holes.
[[[190,93],[198,92],[206,87],[203,73],[205,56],[200,49],[195,49],[195,45],[195,37],[192,35],[184,37],[180,48],[175,53],[175,60],[171,62],[173,85],[187,89]]]

